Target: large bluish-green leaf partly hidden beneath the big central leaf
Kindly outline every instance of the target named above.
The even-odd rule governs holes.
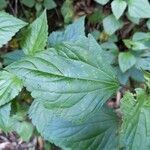
[[[42,136],[62,149],[117,149],[118,118],[108,108],[99,110],[84,122],[72,123],[60,117],[51,118],[51,112],[34,101],[29,115]]]

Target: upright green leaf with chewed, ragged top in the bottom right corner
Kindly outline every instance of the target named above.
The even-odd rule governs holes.
[[[127,92],[121,100],[121,110],[123,112],[120,138],[122,147],[149,150],[150,96],[143,89],[137,89],[136,94]]]

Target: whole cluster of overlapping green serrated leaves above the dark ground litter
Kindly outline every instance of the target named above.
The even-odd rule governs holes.
[[[27,5],[26,0],[22,2]],[[96,2],[104,5],[109,0]],[[66,0],[63,7],[72,4]],[[31,7],[35,5],[33,1]],[[0,12],[0,47],[16,33],[22,35],[21,50],[3,56],[0,128],[16,131],[28,140],[34,125],[45,140],[62,149],[148,150],[150,33],[135,32],[131,39],[123,39],[126,50],[120,51],[114,33],[123,27],[121,16],[127,7],[127,17],[133,23],[150,18],[147,0],[142,0],[142,5],[139,0],[113,0],[113,14],[100,18],[104,31],[87,36],[85,17],[48,35],[46,11],[31,24]],[[64,8],[68,23],[72,13],[70,16]],[[102,39],[105,37],[107,40]],[[138,85],[134,92],[123,93],[119,110],[109,108],[107,101],[124,85],[132,86],[131,81]],[[22,108],[16,104],[16,96],[24,88],[33,102]]]

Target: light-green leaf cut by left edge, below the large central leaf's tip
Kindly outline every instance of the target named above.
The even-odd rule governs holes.
[[[22,89],[22,81],[6,71],[0,72],[0,106],[15,98]]]

